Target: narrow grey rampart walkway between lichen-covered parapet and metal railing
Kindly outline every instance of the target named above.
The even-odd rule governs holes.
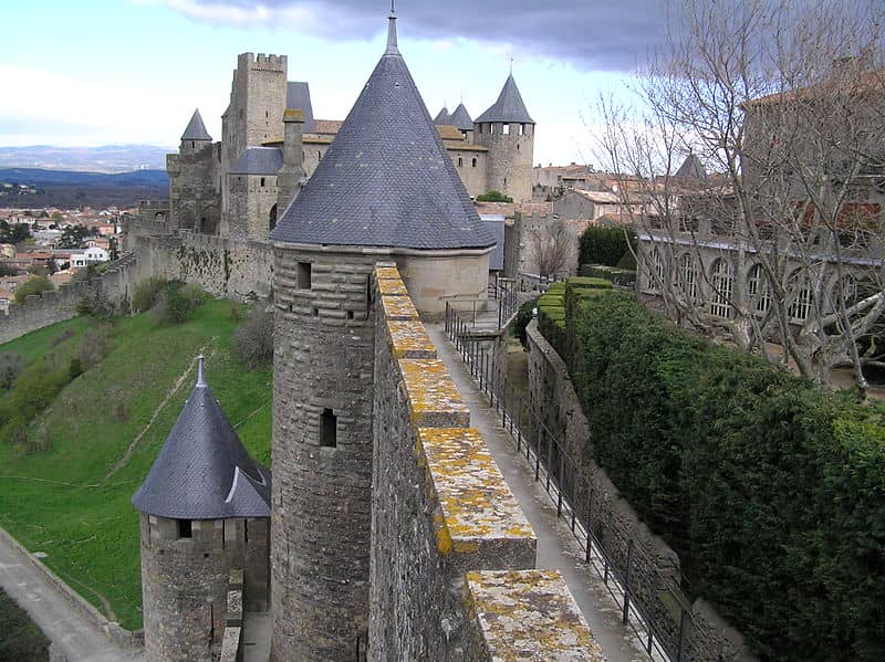
[[[596,642],[611,662],[647,661],[648,655],[628,628],[621,622],[621,609],[598,579],[589,572],[579,547],[564,519],[519,456],[500,427],[500,417],[479,391],[464,361],[446,338],[441,324],[426,324],[427,333],[446,365],[455,385],[470,409],[470,424],[482,433],[498,467],[519,501],[538,536],[538,568],[562,572],[569,590],[593,630]]]

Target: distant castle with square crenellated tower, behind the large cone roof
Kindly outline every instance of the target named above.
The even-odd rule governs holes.
[[[451,115],[442,108],[434,122],[471,198],[498,190],[518,202],[531,199],[534,120],[512,74],[476,120],[461,104]],[[167,157],[170,209],[164,220],[174,229],[264,241],[341,127],[313,117],[308,83],[287,81],[285,55],[242,53],[221,116],[221,141],[212,143],[195,111],[179,153]]]

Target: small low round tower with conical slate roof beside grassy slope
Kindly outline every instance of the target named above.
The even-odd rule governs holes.
[[[270,473],[249,458],[204,378],[133,505],[140,513],[148,662],[211,662],[225,631],[231,570],[267,601]]]

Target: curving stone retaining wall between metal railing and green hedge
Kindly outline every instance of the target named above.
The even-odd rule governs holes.
[[[681,610],[690,617],[686,630],[686,660],[732,661],[752,659],[740,634],[716,614],[702,600],[693,605],[679,588],[680,566],[677,554],[654,535],[624,501],[593,456],[592,434],[581,410],[577,393],[569,378],[565,362],[532,322],[529,340],[529,398],[535,414],[564,440],[568,454],[583,467],[576,480],[576,504],[594,532],[606,539],[608,553],[621,568],[626,567],[627,542],[633,540],[631,588],[646,612],[654,614],[668,644],[678,648]],[[620,532],[612,533],[606,532]]]

